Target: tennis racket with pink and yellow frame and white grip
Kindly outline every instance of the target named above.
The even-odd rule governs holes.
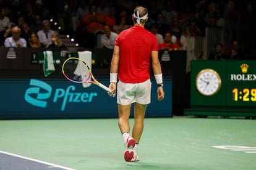
[[[101,87],[108,92],[109,95],[113,95],[113,92],[105,85],[98,82],[92,74],[92,71],[82,59],[70,57],[65,60],[62,65],[62,73],[69,80],[74,83],[92,83]]]

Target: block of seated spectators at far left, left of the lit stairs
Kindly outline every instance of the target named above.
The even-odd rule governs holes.
[[[42,1],[0,2],[0,47],[66,49]]]

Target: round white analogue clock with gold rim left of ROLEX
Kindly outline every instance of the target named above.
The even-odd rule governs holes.
[[[220,75],[212,69],[204,69],[197,74],[195,86],[202,95],[215,95],[221,87]]]

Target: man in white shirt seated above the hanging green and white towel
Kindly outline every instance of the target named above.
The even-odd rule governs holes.
[[[42,25],[43,29],[38,31],[37,34],[40,42],[43,43],[45,47],[48,47],[49,44],[51,44],[51,35],[54,33],[54,31],[51,30],[49,20],[43,20]]]

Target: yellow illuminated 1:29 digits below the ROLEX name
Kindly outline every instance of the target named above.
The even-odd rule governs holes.
[[[241,100],[243,102],[256,102],[256,89],[237,89],[234,88],[233,91],[233,100],[235,102]]]

